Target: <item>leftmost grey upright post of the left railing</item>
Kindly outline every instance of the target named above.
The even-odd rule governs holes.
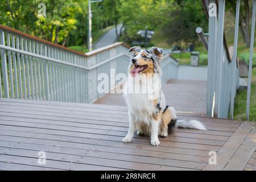
[[[0,44],[5,46],[5,32],[0,30]],[[8,72],[7,72],[7,60],[5,50],[1,50],[1,63],[2,63],[2,72],[3,72],[3,89],[5,91],[4,96],[9,98],[9,84],[8,84]],[[1,82],[0,82],[1,84]],[[1,88],[2,95],[2,88]],[[2,97],[2,96],[1,96]]]

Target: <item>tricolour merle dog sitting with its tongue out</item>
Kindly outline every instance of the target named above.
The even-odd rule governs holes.
[[[131,142],[135,130],[138,135],[150,136],[152,146],[160,144],[158,136],[167,137],[177,127],[206,130],[199,121],[177,119],[174,107],[166,105],[160,79],[162,49],[152,47],[147,50],[134,46],[129,52],[133,55],[123,88],[123,96],[129,108],[129,131],[122,142]],[[134,88],[139,92],[135,93]]]

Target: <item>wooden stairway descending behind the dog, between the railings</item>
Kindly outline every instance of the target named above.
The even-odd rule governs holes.
[[[198,80],[171,79],[162,84],[166,104],[177,111],[196,114],[206,113],[207,82]],[[99,98],[94,104],[126,105],[122,94],[109,93]]]

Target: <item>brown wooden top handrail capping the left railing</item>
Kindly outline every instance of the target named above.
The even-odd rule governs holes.
[[[78,55],[85,56],[85,57],[94,55],[94,54],[96,54],[96,53],[99,53],[99,52],[102,52],[102,51],[105,51],[105,50],[107,50],[107,49],[114,48],[114,47],[117,47],[117,46],[120,46],[120,45],[125,46],[125,47],[127,47],[127,48],[130,48],[130,47],[127,46],[127,44],[125,44],[125,43],[117,42],[117,43],[111,44],[111,45],[109,45],[109,46],[105,46],[105,47],[102,47],[102,48],[100,48],[100,49],[96,49],[96,50],[94,50],[94,51],[90,51],[90,52],[87,52],[87,53],[83,53],[83,52],[75,51],[75,50],[73,50],[73,49],[70,49],[70,48],[67,48],[67,47],[64,47],[64,46],[60,46],[59,44],[52,43],[52,42],[49,42],[49,41],[44,40],[44,39],[37,38],[36,36],[32,36],[32,35],[30,35],[30,34],[26,34],[26,33],[22,32],[22,31],[15,30],[15,29],[10,28],[10,27],[7,27],[7,26],[3,26],[2,24],[0,24],[0,28],[2,28],[2,30],[9,31],[9,32],[13,32],[14,34],[22,35],[22,36],[24,36],[24,37],[26,37],[26,38],[33,39],[33,40],[36,40],[36,41],[41,42],[41,43],[44,43],[44,44],[48,44],[49,46],[53,46],[53,47],[65,49],[66,51],[70,51],[70,52],[73,52],[73,53],[76,53],[76,54],[78,54]]]

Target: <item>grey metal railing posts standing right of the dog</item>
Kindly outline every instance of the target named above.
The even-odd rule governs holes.
[[[234,47],[230,53],[226,44],[224,32],[225,18],[225,0],[202,0],[205,13],[209,19],[209,38],[208,38],[208,85],[207,85],[207,115],[227,118],[228,115],[233,118],[234,98],[239,86],[239,71],[237,63],[237,40],[238,40],[238,22],[240,13],[240,0],[236,4],[236,21],[234,30]],[[216,16],[209,15],[209,9],[217,7]],[[251,67],[253,59],[253,40],[255,28],[255,9],[256,0],[253,0],[253,15],[251,26],[251,46],[250,46],[250,64],[249,81],[247,87],[247,106],[246,118],[249,119],[250,108],[250,85],[251,85]],[[214,11],[213,9],[210,11]],[[203,32],[203,31],[202,31]],[[200,37],[200,35],[199,35]],[[204,39],[202,36],[200,39]],[[230,56],[232,55],[232,57]]]

